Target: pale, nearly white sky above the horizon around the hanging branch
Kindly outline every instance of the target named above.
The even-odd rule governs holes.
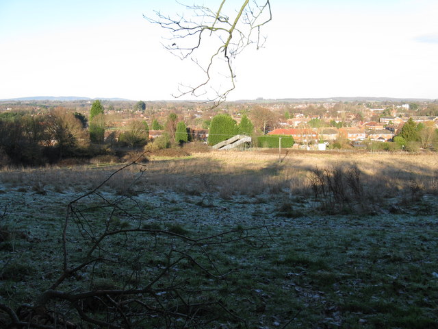
[[[220,4],[196,1],[190,4]],[[271,0],[271,6],[264,47],[247,47],[234,62],[229,100],[438,99],[438,1]],[[179,84],[196,84],[200,75],[193,62],[164,49],[164,31],[143,17],[154,10],[183,12],[173,0],[0,0],[0,99],[173,99]]]

